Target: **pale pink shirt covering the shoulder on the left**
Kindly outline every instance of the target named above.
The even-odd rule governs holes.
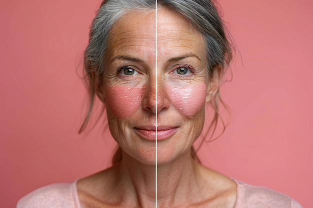
[[[21,198],[16,208],[75,208],[74,183],[51,184]]]

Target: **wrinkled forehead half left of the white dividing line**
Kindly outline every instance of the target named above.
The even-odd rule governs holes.
[[[135,61],[149,68],[155,63],[155,41],[155,15],[126,13],[110,29],[106,51],[107,63]]]

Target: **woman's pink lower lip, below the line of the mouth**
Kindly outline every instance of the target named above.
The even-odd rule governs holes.
[[[136,129],[135,131],[144,139],[155,141],[164,140],[172,136],[176,132],[177,128],[158,130],[157,132],[153,130]]]

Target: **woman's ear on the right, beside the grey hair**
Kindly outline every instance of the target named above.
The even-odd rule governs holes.
[[[205,102],[210,102],[212,98],[216,95],[220,86],[221,76],[222,76],[222,66],[218,65],[213,69],[213,75],[209,79]]]

